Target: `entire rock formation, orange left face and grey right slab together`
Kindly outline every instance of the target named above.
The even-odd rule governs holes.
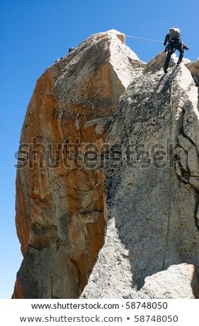
[[[198,298],[198,88],[117,31],[37,81],[21,132],[12,298]],[[188,64],[191,65],[191,64]],[[192,66],[191,66],[192,67]]]

